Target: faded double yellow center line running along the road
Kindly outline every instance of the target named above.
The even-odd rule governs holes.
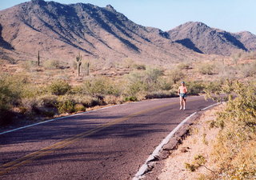
[[[192,101],[196,101],[196,100],[190,100],[190,102]],[[118,118],[117,120],[114,120],[113,122],[107,122],[106,124],[103,124],[101,126],[98,126],[92,130],[88,130],[82,134],[77,134],[74,135],[74,137],[71,138],[66,138],[65,140],[61,141],[61,142],[57,142],[54,143],[51,146],[47,146],[42,148],[41,150],[35,151],[31,154],[27,154],[25,156],[23,156],[22,158],[18,158],[16,160],[14,160],[13,162],[7,162],[6,164],[3,164],[2,166],[0,166],[0,176],[9,173],[11,170],[14,170],[15,168],[18,168],[19,166],[28,164],[30,162],[32,162],[33,160],[40,158],[42,156],[45,156],[46,154],[50,154],[52,153],[54,150],[59,150],[62,149],[65,146],[68,146],[74,142],[78,142],[80,139],[82,138],[86,138],[88,136],[90,136],[91,134],[95,134],[100,130],[106,129],[109,126],[114,126],[120,122],[125,122],[126,120],[130,119],[130,118],[134,118],[135,116],[139,115],[139,114],[145,114],[147,112],[150,112],[152,110],[157,110],[166,106],[170,106],[170,105],[174,105],[174,104],[178,104],[178,102],[171,102],[168,103],[166,105],[162,105],[162,106],[157,106],[157,107],[153,107],[147,110],[142,110],[139,111],[137,113],[134,114],[130,114],[126,117],[123,118]]]

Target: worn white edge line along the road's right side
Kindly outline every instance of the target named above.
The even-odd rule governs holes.
[[[202,110],[209,109],[210,107],[217,106],[219,104],[220,103],[215,103],[213,105],[203,108]],[[142,178],[143,174],[145,174],[146,171],[149,169],[149,162],[154,160],[154,158],[158,156],[160,150],[162,150],[162,147],[165,146],[170,141],[170,138],[173,137],[173,135],[178,131],[178,129],[181,128],[192,116],[194,116],[194,114],[197,113],[198,112],[194,112],[193,114],[190,114],[189,117],[185,118],[181,123],[179,123],[178,126],[176,126],[174,130],[172,130],[170,134],[168,134],[166,138],[162,140],[162,142],[155,148],[154,152],[150,154],[149,158],[146,159],[146,162],[139,168],[138,172],[134,175],[133,180],[139,180]]]

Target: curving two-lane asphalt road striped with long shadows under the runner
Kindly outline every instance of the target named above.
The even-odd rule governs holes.
[[[210,106],[189,97],[128,103],[0,135],[0,179],[131,179],[183,119]]]

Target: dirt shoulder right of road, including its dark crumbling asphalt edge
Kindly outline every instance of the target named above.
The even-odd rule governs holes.
[[[209,129],[209,126],[222,108],[223,105],[218,105],[194,115],[164,146],[158,161],[154,162],[154,169],[143,179],[192,180],[199,178],[201,174],[212,173],[210,170],[214,169],[214,163],[209,158],[212,151],[210,144],[215,141],[219,129]],[[194,162],[194,157],[198,155],[206,158],[205,166],[194,172],[186,169],[185,164]]]

